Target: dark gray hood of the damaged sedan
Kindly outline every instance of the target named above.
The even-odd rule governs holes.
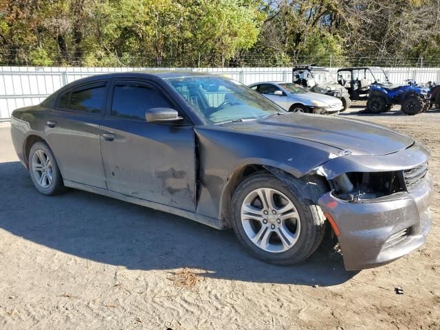
[[[381,125],[324,115],[287,113],[230,126],[237,131],[241,128],[247,133],[254,131],[318,142],[348,150],[352,155],[386,155],[414,144],[411,137]]]

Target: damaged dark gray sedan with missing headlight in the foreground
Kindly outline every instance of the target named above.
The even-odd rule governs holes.
[[[270,263],[307,259],[326,223],[348,270],[404,256],[430,229],[423,145],[377,124],[288,113],[220,76],[84,78],[15,110],[11,134],[43,195],[76,188],[232,228]]]

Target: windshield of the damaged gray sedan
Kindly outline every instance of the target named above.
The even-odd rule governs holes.
[[[164,80],[208,124],[252,120],[285,113],[256,91],[228,78],[190,76]]]

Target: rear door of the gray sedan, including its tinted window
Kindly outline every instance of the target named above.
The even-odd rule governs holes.
[[[108,80],[77,85],[58,96],[46,113],[45,139],[65,180],[107,188],[99,124],[108,87]]]

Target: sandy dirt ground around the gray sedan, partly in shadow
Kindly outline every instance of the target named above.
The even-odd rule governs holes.
[[[426,144],[435,182],[428,242],[362,272],[329,240],[277,267],[232,232],[79,190],[39,195],[0,123],[0,329],[440,329],[440,111],[362,108],[341,116]]]

